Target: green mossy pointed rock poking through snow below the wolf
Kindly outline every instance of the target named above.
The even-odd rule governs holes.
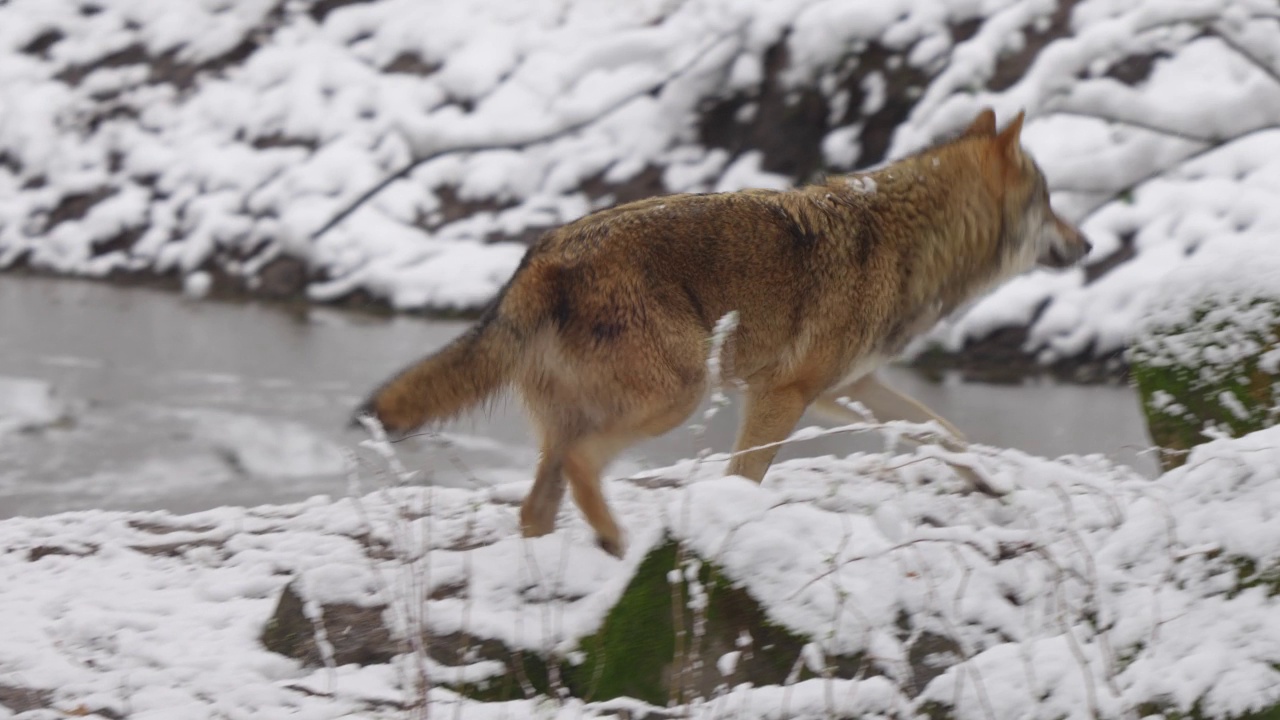
[[[694,594],[705,601],[701,618],[690,609]],[[463,657],[495,659],[508,669],[483,685],[454,688],[485,701],[525,697],[529,691],[556,694],[553,669],[558,670],[559,687],[572,697],[628,697],[659,707],[713,697],[722,685],[771,685],[814,676],[800,661],[808,638],[772,623],[760,603],[716,565],[681,557],[672,539],[645,556],[600,629],[582,638],[570,659],[512,652],[494,641],[475,638],[471,650],[463,651],[460,642],[433,638],[433,657],[452,665]],[[735,661],[721,662],[730,653]],[[836,676],[852,676],[861,669],[856,656],[828,661]]]

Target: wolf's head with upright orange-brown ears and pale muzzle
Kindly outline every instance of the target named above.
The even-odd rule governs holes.
[[[1053,211],[1044,174],[1021,146],[1021,131],[1023,113],[996,132],[996,114],[986,109],[961,137],[986,143],[983,176],[1001,205],[1001,241],[1011,259],[1023,268],[1068,268],[1089,254],[1089,241]]]

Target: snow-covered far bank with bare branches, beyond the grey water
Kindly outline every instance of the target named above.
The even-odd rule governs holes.
[[[751,122],[782,47],[781,91],[828,95],[822,151],[833,168],[868,161],[860,133],[887,92],[911,104],[891,156],[983,105],[1001,119],[1025,108],[1027,143],[1094,258],[1134,258],[1101,277],[1015,281],[936,340],[1030,323],[1047,359],[1102,354],[1197,249],[1280,228],[1280,9],[1060,5],[10,0],[0,266],[177,273],[201,293],[209,270],[253,284],[289,255],[305,260],[317,301],[364,291],[396,307],[475,307],[521,256],[503,238],[607,205],[611,187],[646,170],[667,191],[803,179],[762,170],[750,146],[704,145],[699,131],[714,99],[742,97],[736,122]],[[1020,79],[1000,77],[1044,37],[1057,40],[1023,60]],[[856,92],[840,87],[870,44],[893,58]],[[925,78],[918,90],[887,85],[904,63]]]

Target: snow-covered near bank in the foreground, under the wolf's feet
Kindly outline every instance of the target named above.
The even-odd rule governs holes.
[[[389,603],[392,628],[567,651],[669,533],[812,635],[810,665],[863,651],[877,671],[726,688],[694,717],[909,717],[929,701],[974,719],[1239,716],[1280,702],[1280,597],[1242,583],[1280,564],[1277,447],[1280,429],[1216,441],[1156,480],[1100,457],[984,447],[791,461],[763,487],[690,461],[609,484],[628,532],[621,561],[570,506],[557,533],[520,538],[527,483],[5,520],[0,697],[106,717],[402,716],[410,656],[314,671],[261,647],[285,583],[320,603]],[[1004,495],[969,492],[948,462]],[[960,656],[911,696],[906,657],[924,632]],[[489,671],[429,665],[436,680]],[[457,717],[618,716],[430,697]]]

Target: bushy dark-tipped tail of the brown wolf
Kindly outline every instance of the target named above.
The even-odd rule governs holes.
[[[521,357],[521,343],[497,309],[466,333],[383,383],[356,411],[389,433],[452,419],[502,391]]]

